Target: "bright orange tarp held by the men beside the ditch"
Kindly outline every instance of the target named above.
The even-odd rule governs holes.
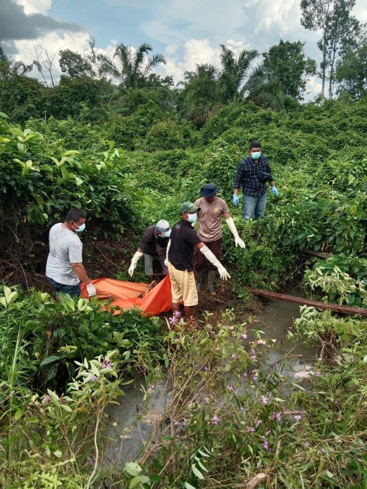
[[[112,306],[120,309],[137,307],[144,316],[156,316],[171,310],[171,282],[168,275],[142,298],[138,295],[146,292],[148,284],[113,279],[97,279],[92,280],[92,283],[98,296],[111,297],[113,299]],[[84,284],[82,284],[81,297],[88,298],[87,288]],[[117,310],[115,314],[119,314],[119,311]]]

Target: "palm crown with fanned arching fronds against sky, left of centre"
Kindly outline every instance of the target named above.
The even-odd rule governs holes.
[[[105,55],[99,56],[100,71],[111,74],[126,88],[144,85],[144,80],[153,68],[161,63],[166,64],[166,59],[160,54],[146,59],[152,50],[148,43],[141,44],[135,51],[132,46],[126,46],[121,42],[116,47],[113,60]],[[114,62],[115,59],[116,63]]]

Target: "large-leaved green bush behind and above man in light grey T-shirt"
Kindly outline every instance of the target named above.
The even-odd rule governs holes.
[[[9,210],[16,207],[38,224],[63,220],[70,207],[83,207],[107,230],[131,221],[132,195],[123,193],[128,177],[115,166],[121,156],[113,144],[79,159],[77,151],[48,145],[40,133],[22,131],[4,119],[0,138],[1,200]]]

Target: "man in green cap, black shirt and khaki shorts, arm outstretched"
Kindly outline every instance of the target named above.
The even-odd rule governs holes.
[[[230,279],[227,270],[193,229],[197,211],[200,211],[200,207],[191,202],[184,202],[181,205],[179,208],[181,220],[173,226],[167,247],[166,263],[171,280],[172,311],[179,311],[180,302],[183,302],[188,321],[193,317],[194,306],[198,303],[193,263],[194,248],[218,268],[222,280]]]

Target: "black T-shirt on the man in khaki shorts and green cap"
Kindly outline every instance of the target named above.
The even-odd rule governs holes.
[[[172,228],[168,260],[177,270],[194,270],[194,246],[201,242],[192,225],[181,221]]]

